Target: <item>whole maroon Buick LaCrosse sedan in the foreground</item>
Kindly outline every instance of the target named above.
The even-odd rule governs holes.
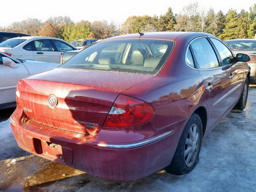
[[[248,60],[206,33],[108,38],[20,80],[12,132],[20,148],[104,178],[185,174],[202,138],[245,108]]]

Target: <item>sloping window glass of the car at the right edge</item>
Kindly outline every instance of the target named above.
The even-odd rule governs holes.
[[[232,40],[224,41],[226,46],[232,51],[255,51],[256,40]]]

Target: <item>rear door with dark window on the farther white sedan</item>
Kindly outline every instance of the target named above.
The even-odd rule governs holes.
[[[60,63],[59,54],[54,49],[50,39],[35,39],[33,56],[36,61]]]

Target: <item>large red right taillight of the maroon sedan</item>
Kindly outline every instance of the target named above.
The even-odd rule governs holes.
[[[154,112],[154,108],[142,100],[119,95],[108,113],[104,127],[138,126],[149,121]]]

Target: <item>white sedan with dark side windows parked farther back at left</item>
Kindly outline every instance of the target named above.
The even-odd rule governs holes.
[[[0,51],[20,59],[60,63],[63,52],[77,50],[70,43],[53,37],[17,37],[0,43]]]

